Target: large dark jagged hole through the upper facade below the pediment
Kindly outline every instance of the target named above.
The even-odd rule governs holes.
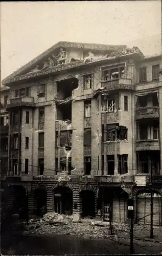
[[[78,87],[78,79],[70,78],[57,82],[57,119],[72,120],[72,91]]]

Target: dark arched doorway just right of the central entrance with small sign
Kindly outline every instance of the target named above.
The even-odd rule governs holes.
[[[80,192],[82,199],[82,217],[96,216],[96,200],[95,193],[91,190],[82,190]]]

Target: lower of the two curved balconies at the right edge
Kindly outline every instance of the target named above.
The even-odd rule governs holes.
[[[160,150],[159,140],[139,140],[136,141],[136,151]]]

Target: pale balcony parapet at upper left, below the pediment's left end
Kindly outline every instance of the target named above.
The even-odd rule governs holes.
[[[17,106],[34,106],[34,97],[19,97],[10,99],[6,109],[16,108]]]

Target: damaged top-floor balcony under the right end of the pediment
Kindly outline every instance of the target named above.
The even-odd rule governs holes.
[[[128,78],[103,81],[101,86],[102,88],[106,87],[107,91],[134,90],[134,86],[131,84],[131,79]]]

